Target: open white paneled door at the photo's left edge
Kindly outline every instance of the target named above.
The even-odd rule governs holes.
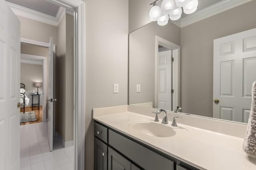
[[[0,0],[0,170],[20,169],[20,21]]]

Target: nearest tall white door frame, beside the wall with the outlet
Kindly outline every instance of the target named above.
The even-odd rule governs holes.
[[[74,170],[84,170],[85,160],[85,2],[46,0],[74,13]]]

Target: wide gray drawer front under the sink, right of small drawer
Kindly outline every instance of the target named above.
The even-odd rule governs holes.
[[[174,170],[171,160],[112,130],[108,130],[108,143],[145,170]]]

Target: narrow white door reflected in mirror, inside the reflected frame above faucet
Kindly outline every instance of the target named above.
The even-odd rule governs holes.
[[[157,108],[172,110],[172,50],[158,53]]]

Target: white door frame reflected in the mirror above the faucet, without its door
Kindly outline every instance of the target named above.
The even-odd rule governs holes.
[[[173,84],[174,99],[172,103],[174,107],[180,106],[180,46],[157,35],[155,36],[155,104],[157,104],[158,96],[158,44],[172,50],[172,57],[175,61],[172,64],[173,79],[175,79],[175,84]]]

